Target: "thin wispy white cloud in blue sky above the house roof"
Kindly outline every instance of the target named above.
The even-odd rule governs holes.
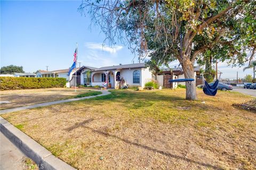
[[[107,45],[102,46],[102,44],[100,43],[85,43],[85,47],[93,50],[102,50],[112,54],[116,53],[118,50],[121,50],[123,48],[123,46],[112,46],[112,47],[109,47]]]

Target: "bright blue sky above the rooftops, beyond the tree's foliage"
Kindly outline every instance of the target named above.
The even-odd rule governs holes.
[[[67,69],[78,43],[81,65],[130,64],[134,54],[122,44],[102,48],[105,38],[89,16],[77,11],[82,1],[1,1],[1,66],[19,65],[26,72]],[[134,62],[137,61],[135,57]],[[171,63],[171,66],[177,62]],[[252,74],[220,63],[222,78]]]

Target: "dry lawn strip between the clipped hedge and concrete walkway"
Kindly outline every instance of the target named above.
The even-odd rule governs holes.
[[[77,89],[77,92],[68,88],[5,90],[0,91],[0,101],[10,101],[10,103],[0,103],[0,109],[69,99],[86,92],[89,90]]]

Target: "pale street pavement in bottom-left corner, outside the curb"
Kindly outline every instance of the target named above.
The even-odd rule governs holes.
[[[0,132],[0,169],[1,170],[23,170],[27,169],[25,165],[26,156],[10,142],[2,132]]]

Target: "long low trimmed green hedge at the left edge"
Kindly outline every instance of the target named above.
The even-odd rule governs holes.
[[[0,90],[65,87],[65,78],[0,77]]]

